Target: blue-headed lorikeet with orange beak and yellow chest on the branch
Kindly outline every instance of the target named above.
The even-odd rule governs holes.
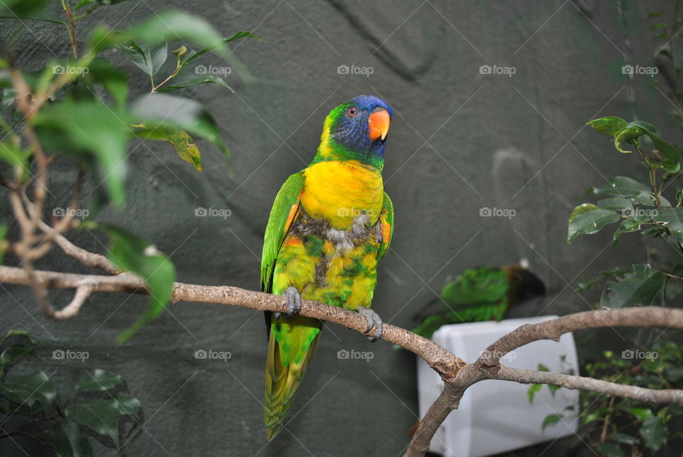
[[[377,263],[393,233],[383,189],[384,147],[392,110],[359,95],[325,119],[311,164],[275,196],[263,241],[261,289],[287,297],[287,315],[266,312],[268,362],[263,421],[268,439],[282,427],[318,344],[322,321],[298,315],[301,300],[356,310],[369,335],[382,322],[370,310]]]

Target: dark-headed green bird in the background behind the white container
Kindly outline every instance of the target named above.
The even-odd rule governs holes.
[[[501,320],[510,306],[545,292],[541,280],[524,266],[469,268],[413,316],[421,321],[413,332],[430,338],[442,325]]]

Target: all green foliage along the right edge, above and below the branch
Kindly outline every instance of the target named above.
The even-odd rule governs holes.
[[[649,182],[618,176],[601,187],[588,189],[586,196],[595,196],[597,201],[573,209],[568,221],[568,243],[578,235],[598,233],[618,224],[613,226],[612,248],[618,246],[623,234],[640,232],[643,243],[658,239],[665,243],[665,251],[683,253],[683,188],[674,187],[674,183],[681,182],[678,149],[662,140],[655,127],[647,122],[602,117],[591,120],[588,125],[612,137],[618,152],[637,152],[640,164],[647,169]],[[652,148],[650,152],[646,152],[648,144]],[[682,273],[680,261],[662,265],[637,263],[583,279],[578,283],[578,291],[603,283],[598,308],[675,305],[674,298],[683,291]],[[649,389],[683,388],[681,346],[669,340],[664,332],[658,335],[655,332],[639,332],[635,338],[638,349],[625,349],[620,357],[613,351],[605,351],[603,357],[586,364],[582,374]],[[539,389],[540,384],[529,387],[530,400]],[[553,387],[553,394],[555,390]],[[545,429],[567,414],[568,411],[551,414],[541,427]],[[579,435],[601,456],[673,455],[683,446],[683,408],[675,404],[651,404],[582,391],[578,421]]]

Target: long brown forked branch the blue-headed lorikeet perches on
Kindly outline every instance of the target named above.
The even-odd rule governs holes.
[[[58,234],[55,236],[55,241],[59,237],[63,238],[63,236]],[[63,239],[65,240],[65,238]],[[88,253],[88,251],[83,252]],[[90,256],[97,256],[97,254],[88,254]],[[33,270],[33,275],[44,288],[71,288],[76,290],[71,303],[63,310],[55,311],[53,316],[55,318],[65,319],[76,315],[85,300],[92,293],[148,293],[144,282],[131,273],[80,275]],[[23,268],[0,266],[0,283],[31,285],[31,278]],[[171,300],[174,303],[185,300],[198,303],[242,306],[255,310],[287,312],[287,300],[280,295],[254,292],[231,286],[174,283]],[[363,334],[366,332],[365,317],[357,312],[324,303],[302,300],[301,315],[344,325],[344,327]],[[683,310],[655,306],[618,310],[594,310],[578,312],[558,317],[557,319],[546,320],[538,324],[523,325],[490,345],[487,350],[482,352],[480,358],[472,364],[465,363],[460,357],[445,350],[431,340],[426,340],[401,327],[385,324],[382,340],[399,345],[422,357],[430,367],[440,374],[445,384],[443,392],[430,406],[424,418],[420,420],[418,429],[415,431],[406,451],[406,456],[423,456],[429,449],[430,441],[435,431],[450,414],[450,411],[457,409],[465,390],[472,384],[484,379],[500,379],[521,384],[554,384],[568,389],[585,389],[640,401],[683,405],[682,390],[645,389],[643,387],[615,384],[600,379],[509,368],[499,364],[499,359],[504,354],[529,342],[536,340],[558,340],[564,333],[576,330],[618,326],[683,328]]]

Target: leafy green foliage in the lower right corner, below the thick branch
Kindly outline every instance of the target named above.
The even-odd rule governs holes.
[[[647,389],[683,389],[683,350],[663,338],[651,350],[605,351],[583,367],[583,376]],[[548,371],[539,365],[541,371]],[[558,387],[548,386],[553,396]],[[529,401],[542,388],[531,384]],[[617,396],[581,391],[579,436],[600,456],[673,456],[683,448],[683,406],[652,404]],[[571,411],[571,416],[569,416]],[[576,418],[573,406],[546,416],[541,428]]]

